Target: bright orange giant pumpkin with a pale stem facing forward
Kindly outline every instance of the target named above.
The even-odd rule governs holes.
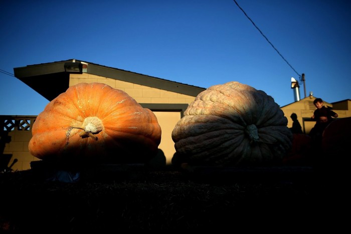
[[[38,115],[29,151],[47,160],[124,162],[154,156],[160,140],[156,116],[127,93],[102,83],[79,83]]]

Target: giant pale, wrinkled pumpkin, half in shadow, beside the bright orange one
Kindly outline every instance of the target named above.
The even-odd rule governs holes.
[[[194,165],[281,162],[292,145],[282,110],[261,90],[228,82],[201,92],[172,131],[177,160]]]

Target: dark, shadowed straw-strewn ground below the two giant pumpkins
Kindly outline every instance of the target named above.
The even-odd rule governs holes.
[[[326,168],[101,165],[75,182],[57,173],[0,174],[0,232],[315,231],[347,221],[344,184]]]

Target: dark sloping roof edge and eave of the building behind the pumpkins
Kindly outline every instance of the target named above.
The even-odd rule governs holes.
[[[72,62],[81,65],[79,72],[70,72],[66,70],[65,65],[72,64]],[[34,89],[49,101],[52,101],[61,93],[66,92],[69,87],[69,79],[71,73],[82,74],[83,72],[194,97],[196,97],[202,91],[206,90],[206,88],[202,87],[183,84],[76,59],[14,68],[14,74],[16,78],[27,84],[29,87]]]

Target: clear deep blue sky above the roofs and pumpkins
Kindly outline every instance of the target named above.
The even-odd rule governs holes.
[[[49,103],[4,71],[68,59],[202,88],[238,81],[280,106],[304,73],[306,96],[351,99],[350,12],[348,0],[0,1],[0,115]]]

